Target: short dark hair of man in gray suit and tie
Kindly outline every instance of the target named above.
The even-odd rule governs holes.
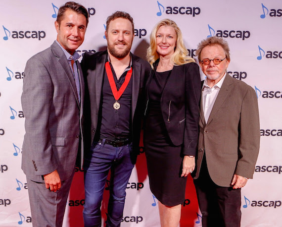
[[[83,5],[76,3],[74,1],[68,1],[59,8],[57,20],[56,20],[59,25],[60,25],[61,20],[64,17],[64,13],[67,9],[73,10],[73,11],[79,13],[79,14],[83,14],[86,18],[86,27],[87,27],[87,25],[88,25],[88,11]]]

